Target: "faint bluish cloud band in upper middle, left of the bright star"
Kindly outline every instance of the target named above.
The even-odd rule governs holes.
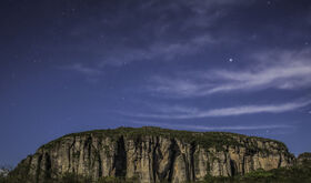
[[[177,57],[190,55],[199,52],[204,45],[213,44],[217,41],[209,34],[201,34],[182,41],[153,41],[146,48],[121,48],[112,51],[108,57],[103,57],[99,67],[119,67],[123,63],[134,61],[171,61]]]

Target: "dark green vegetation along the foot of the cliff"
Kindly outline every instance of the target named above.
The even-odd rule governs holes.
[[[9,175],[0,177],[0,183],[31,183],[30,177],[23,175]],[[137,183],[137,179],[126,180],[116,177],[102,177],[97,182],[88,177],[66,174],[60,180],[50,180],[44,183]],[[243,176],[212,177],[207,176],[198,183],[311,183],[311,161],[301,162],[292,167],[282,167],[271,171],[258,170]]]

